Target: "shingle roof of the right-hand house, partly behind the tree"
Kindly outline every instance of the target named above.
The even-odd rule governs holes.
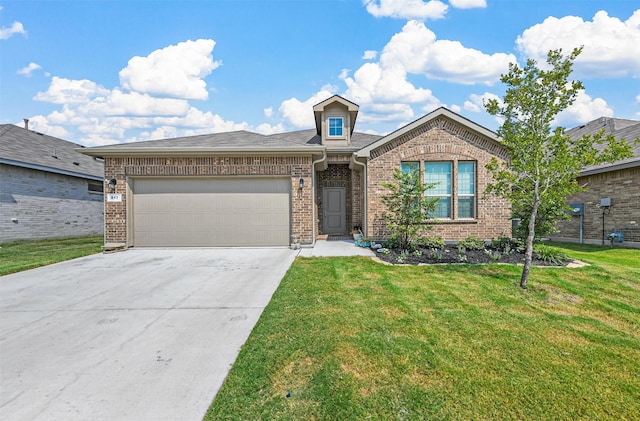
[[[640,138],[640,121],[624,120],[620,118],[600,117],[587,124],[567,130],[567,134],[572,138],[580,138],[586,134],[595,134],[603,130],[605,134],[612,134],[617,139],[625,139],[633,149],[633,157],[622,159],[613,164],[592,165],[585,168],[582,174],[598,173],[627,166],[640,165],[640,143],[635,143],[634,139]],[[604,147],[604,146],[601,146]]]

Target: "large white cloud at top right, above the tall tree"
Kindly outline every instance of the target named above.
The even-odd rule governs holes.
[[[569,53],[584,45],[575,70],[588,77],[640,77],[640,9],[625,22],[597,12],[592,21],[581,17],[548,17],[525,30],[516,41],[518,50],[544,62],[547,52],[562,48]]]

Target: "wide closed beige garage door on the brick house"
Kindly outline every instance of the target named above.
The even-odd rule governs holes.
[[[134,179],[135,246],[287,246],[291,180]]]

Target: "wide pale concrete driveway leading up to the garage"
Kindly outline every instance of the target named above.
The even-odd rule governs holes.
[[[0,418],[200,420],[295,251],[131,249],[0,278]]]

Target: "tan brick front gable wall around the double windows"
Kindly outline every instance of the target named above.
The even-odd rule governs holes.
[[[432,121],[428,127],[421,126],[413,132],[393,140],[390,144],[374,150],[368,165],[367,234],[374,239],[387,238],[389,232],[382,218],[385,207],[381,197],[387,193],[384,182],[393,181],[393,169],[403,161],[450,161],[456,167],[458,160],[476,162],[476,204],[477,215],[473,220],[457,220],[453,212],[452,220],[442,220],[434,224],[428,235],[442,236],[445,240],[458,240],[470,235],[482,239],[511,235],[511,208],[509,202],[483,193],[490,175],[485,165],[494,156],[504,157],[506,152],[495,142],[471,134],[449,121]],[[457,180],[452,178],[452,191]]]

